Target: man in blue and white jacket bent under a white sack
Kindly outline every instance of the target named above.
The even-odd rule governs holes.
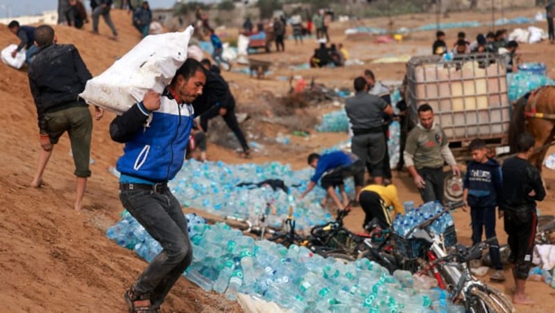
[[[194,100],[221,92],[220,82],[207,84],[207,75],[200,62],[187,59],[161,95],[148,91],[110,124],[112,140],[125,143],[117,161],[121,203],[163,248],[123,294],[130,312],[160,310],[191,264],[187,222],[167,182],[183,166],[194,116],[209,107]]]

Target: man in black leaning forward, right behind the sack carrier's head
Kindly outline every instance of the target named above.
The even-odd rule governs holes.
[[[225,83],[227,87],[227,92],[223,98],[214,98],[210,105],[214,105],[207,112],[200,116],[200,127],[203,128],[204,132],[208,131],[208,120],[215,118],[216,116],[221,116],[225,120],[225,124],[230,127],[235,137],[241,144],[243,148],[242,156],[248,157],[250,154],[250,147],[248,147],[247,140],[241,128],[239,127],[239,122],[237,122],[237,116],[235,116],[235,99],[229,90],[228,84],[223,80],[220,75],[220,69],[216,66],[212,66],[210,60],[204,59],[200,63],[203,64],[205,69],[209,70],[212,75],[216,75],[220,80]]]

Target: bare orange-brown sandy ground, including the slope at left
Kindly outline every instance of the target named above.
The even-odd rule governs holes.
[[[531,17],[537,10],[506,12],[506,17],[524,15]],[[110,31],[101,22],[101,35],[93,35],[87,30],[56,27],[58,42],[75,44],[93,75],[108,68],[114,60],[132,48],[139,35],[130,26],[130,18],[125,12],[112,10],[112,18],[120,33],[118,42],[109,39]],[[452,21],[488,21],[488,12],[465,12],[452,14]],[[433,15],[406,15],[395,18],[394,28],[418,26],[434,21]],[[367,26],[386,28],[387,19],[373,19]],[[544,24],[539,24],[545,27]],[[343,42],[351,56],[368,62],[386,55],[406,55],[427,53],[434,39],[434,32],[413,33],[406,40],[392,44],[375,44],[373,37],[347,39],[343,29],[348,24],[332,25],[332,42]],[[487,28],[469,28],[468,38]],[[447,30],[447,44],[454,42],[458,29]],[[0,25],[0,46],[16,42],[6,26]],[[300,74],[305,78],[314,77],[328,87],[351,87],[352,79],[363,69],[372,69],[379,80],[401,80],[404,64],[370,64],[351,66],[345,69],[309,69],[291,71],[289,64],[307,62],[311,51],[316,48],[314,40],[302,46],[286,42],[285,53],[257,55],[260,60],[271,60],[275,66],[273,75],[264,80],[248,78],[239,73],[224,73],[225,78],[237,84],[234,90],[241,106],[256,105],[259,94],[280,95],[289,89],[287,82],[278,78]],[[526,61],[545,62],[549,75],[553,73],[555,61],[552,58],[555,46],[545,42],[536,45],[523,44],[522,55]],[[40,189],[28,188],[31,181],[40,145],[38,144],[36,111],[28,88],[25,71],[17,71],[0,64],[0,99],[3,104],[3,131],[0,132],[0,301],[6,312],[123,312],[126,305],[121,294],[130,285],[146,263],[133,251],[118,247],[105,238],[105,229],[118,220],[123,209],[117,193],[117,179],[110,175],[108,167],[113,166],[121,154],[121,145],[110,140],[108,125],[112,114],[95,122],[91,166],[93,176],[89,179],[85,195],[85,209],[81,213],[71,210],[74,199],[73,161],[69,156],[69,140],[63,136],[56,146],[44,180],[46,186]],[[315,109],[316,110],[316,109]],[[318,109],[320,110],[320,109]],[[315,113],[320,114],[321,111]],[[284,131],[280,126],[264,124],[266,136]],[[293,136],[292,136],[293,137]],[[311,132],[308,140],[292,138],[291,148],[268,146],[271,154],[255,154],[253,162],[282,161],[291,163],[293,168],[306,166],[306,155],[323,147],[330,147],[347,138],[346,134],[318,134]],[[223,147],[210,145],[208,157],[229,163],[244,161]],[[550,188],[555,172],[544,169],[543,175]],[[416,189],[411,184],[407,172],[395,172],[394,182],[400,190],[402,201],[419,201]],[[554,214],[555,199],[550,194],[539,204],[543,214]],[[361,210],[355,210],[348,217],[348,226],[360,231]],[[462,211],[454,213],[459,242],[470,243],[470,218]],[[506,241],[502,224],[497,226],[501,242]],[[511,276],[505,269],[506,276]],[[487,276],[486,276],[487,279]],[[495,285],[503,292],[511,294],[513,281]],[[538,303],[533,307],[520,307],[522,312],[555,312],[552,301],[554,292],[545,283],[528,283],[531,297]],[[217,294],[203,292],[185,279],[180,279],[168,297],[163,312],[239,312],[236,303],[225,301]]]

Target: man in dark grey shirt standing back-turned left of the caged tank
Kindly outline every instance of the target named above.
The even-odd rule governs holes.
[[[368,94],[368,83],[363,77],[355,78],[355,92],[345,104],[352,129],[351,150],[364,160],[374,183],[383,184],[387,147],[382,132],[382,114],[393,115],[393,108],[382,98]]]

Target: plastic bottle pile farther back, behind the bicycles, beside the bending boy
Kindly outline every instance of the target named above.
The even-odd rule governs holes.
[[[268,217],[268,223],[273,227],[281,226],[289,214],[289,206],[293,206],[296,226],[305,229],[331,220],[330,213],[318,204],[325,195],[322,188],[315,188],[304,199],[298,199],[313,172],[311,168],[293,171],[289,165],[277,162],[230,165],[221,161],[201,163],[191,159],[185,162],[169,186],[184,206],[221,216],[256,217],[265,213],[266,204],[271,203],[277,210],[275,215]],[[237,186],[266,179],[282,179],[289,194],[269,186]],[[345,188],[352,189],[351,186]]]

